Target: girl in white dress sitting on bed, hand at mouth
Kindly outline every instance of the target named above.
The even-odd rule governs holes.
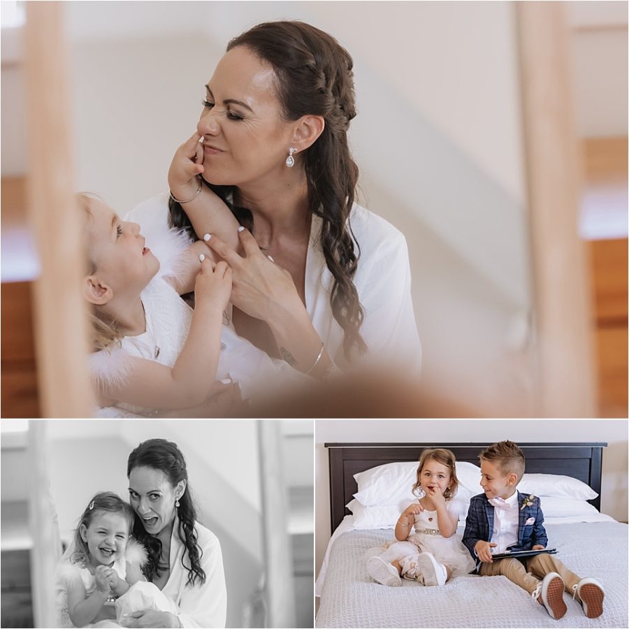
[[[421,453],[413,485],[419,500],[400,515],[397,541],[386,544],[382,554],[367,562],[369,574],[378,583],[400,586],[401,575],[425,586],[442,586],[451,577],[474,570],[474,561],[456,537],[458,513],[451,502],[458,487],[455,465],[450,450]]]

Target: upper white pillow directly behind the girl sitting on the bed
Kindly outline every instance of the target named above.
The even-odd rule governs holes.
[[[456,477],[459,487],[479,493],[480,468],[466,461],[456,462]],[[354,474],[358,491],[354,498],[366,507],[376,505],[398,505],[403,500],[417,500],[412,493],[412,486],[417,481],[417,461],[385,463],[376,468]]]

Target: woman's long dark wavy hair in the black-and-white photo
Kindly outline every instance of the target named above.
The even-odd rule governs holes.
[[[164,472],[168,482],[175,487],[178,482],[185,480],[187,483],[188,472],[186,461],[177,444],[165,439],[149,439],[144,441],[129,454],[129,461],[126,464],[126,477],[129,478],[131,470],[135,468],[150,468]],[[181,565],[188,571],[187,585],[194,586],[198,579],[205,583],[205,572],[201,567],[201,556],[203,550],[197,543],[196,530],[196,509],[192,502],[190,486],[186,485],[183,496],[179,498],[177,509],[179,516],[178,535],[184,542],[187,549],[190,565],[185,565],[186,553],[181,558]],[[134,514],[136,515],[136,514]],[[145,576],[149,581],[155,574],[159,577],[161,570],[168,570],[168,565],[159,562],[161,557],[161,541],[146,532],[144,525],[138,516],[135,517],[133,525],[133,535],[142,542],[148,551],[149,561],[145,568]]]

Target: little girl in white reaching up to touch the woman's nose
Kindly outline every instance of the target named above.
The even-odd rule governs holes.
[[[196,181],[194,173],[203,168],[190,157],[197,139],[193,136],[175,153],[168,174],[175,189],[181,189],[176,180]],[[218,196],[203,188],[213,231],[233,245],[238,222]],[[238,337],[229,321],[223,325],[231,269],[224,261],[214,266],[214,254],[203,241],[189,245],[185,234],[154,233],[150,244],[159,250],[160,263],[145,247],[138,224],[120,220],[99,198],[81,194],[79,201],[88,215],[89,273],[83,294],[92,308],[89,367],[100,417],[196,407],[220,388],[215,380],[226,377],[238,382],[245,399],[268,395],[271,382],[286,389],[310,380]],[[192,289],[194,310],[180,298]]]

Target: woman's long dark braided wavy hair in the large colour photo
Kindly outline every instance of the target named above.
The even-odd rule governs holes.
[[[304,115],[324,117],[321,136],[301,153],[308,180],[308,205],[322,219],[321,248],[334,277],[330,303],[345,333],[345,356],[353,347],[363,352],[367,346],[359,328],[364,311],[353,282],[360,245],[349,226],[359,176],[347,144],[349,122],[356,116],[352,57],[332,36],[296,21],[258,24],[233,38],[227,51],[237,46],[245,46],[273,67],[284,120],[298,120]],[[225,198],[229,187],[212,189]],[[171,201],[171,224],[185,226],[183,210],[177,205]],[[232,211],[246,224],[247,210]],[[250,216],[247,226],[251,229]]]

